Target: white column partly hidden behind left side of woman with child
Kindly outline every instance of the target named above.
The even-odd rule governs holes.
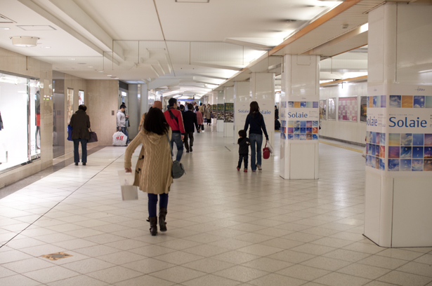
[[[234,134],[233,143],[237,144],[239,131],[244,129],[249,104],[251,103],[251,84],[247,81],[234,82]]]

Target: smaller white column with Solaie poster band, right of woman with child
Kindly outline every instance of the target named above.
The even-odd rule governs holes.
[[[284,55],[280,109],[284,179],[318,179],[319,61],[317,55]]]

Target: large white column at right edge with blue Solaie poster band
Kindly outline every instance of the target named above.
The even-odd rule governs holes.
[[[365,236],[432,246],[432,6],[369,12]]]

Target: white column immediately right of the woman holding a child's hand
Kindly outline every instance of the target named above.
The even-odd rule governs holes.
[[[272,146],[275,142],[275,74],[251,74],[251,101],[258,102],[261,114],[264,116],[268,139]],[[266,144],[263,137],[263,145]]]

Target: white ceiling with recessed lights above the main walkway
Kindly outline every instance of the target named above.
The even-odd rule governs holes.
[[[14,21],[0,24],[11,28],[0,30],[0,47],[37,57],[53,64],[55,70],[84,79],[118,78],[130,83],[146,82],[154,88],[167,88],[170,83],[171,93],[181,90],[204,94],[217,87],[211,83],[223,83],[240,69],[250,67],[289,34],[340,3],[0,0],[1,14]],[[363,24],[364,18],[367,15],[355,18],[352,28]],[[18,25],[46,25],[55,30],[26,32]],[[37,36],[39,45],[16,48],[10,36]],[[315,46],[303,44],[301,51]],[[275,57],[266,64],[276,66],[279,60]]]

